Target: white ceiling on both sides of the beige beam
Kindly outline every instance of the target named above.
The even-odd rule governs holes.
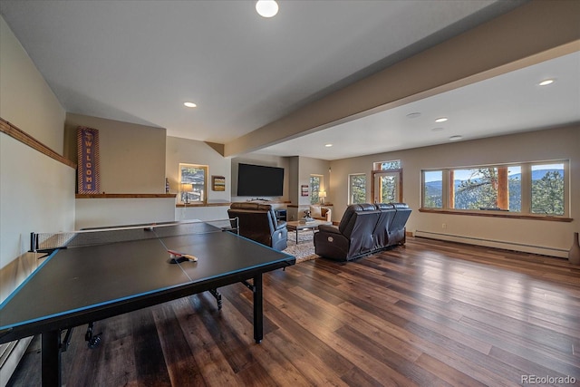
[[[227,143],[524,1],[278,3],[271,19],[253,1],[2,0],[0,15],[65,111]],[[256,152],[336,160],[580,121],[579,68],[568,54]]]

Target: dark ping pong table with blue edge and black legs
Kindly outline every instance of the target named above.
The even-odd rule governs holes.
[[[65,234],[63,246],[0,305],[0,343],[41,334],[43,386],[61,386],[64,331],[237,282],[253,292],[260,343],[262,275],[294,265],[295,257],[227,229],[181,222]]]

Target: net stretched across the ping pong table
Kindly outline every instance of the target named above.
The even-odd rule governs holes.
[[[52,253],[59,248],[85,247],[133,240],[232,231],[239,234],[237,218],[144,223],[117,227],[85,228],[56,233],[31,233],[30,252]]]

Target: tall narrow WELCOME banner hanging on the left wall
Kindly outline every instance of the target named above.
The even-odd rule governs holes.
[[[76,132],[79,193],[100,193],[99,131],[79,126]]]

